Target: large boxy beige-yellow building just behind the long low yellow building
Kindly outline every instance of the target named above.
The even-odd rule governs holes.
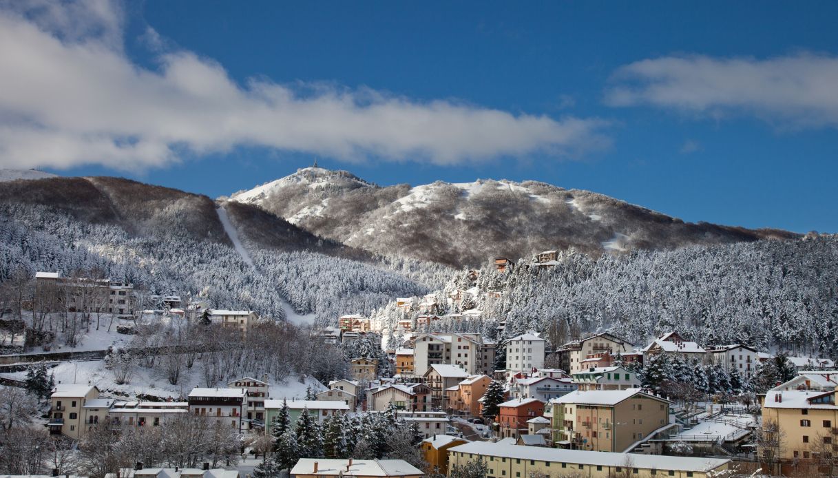
[[[554,441],[573,449],[623,451],[670,423],[670,401],[639,388],[571,392],[551,405]]]

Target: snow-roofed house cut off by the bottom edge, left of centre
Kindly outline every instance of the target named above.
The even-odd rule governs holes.
[[[301,458],[291,469],[291,478],[352,476],[353,478],[422,478],[425,474],[405,460],[349,460]]]

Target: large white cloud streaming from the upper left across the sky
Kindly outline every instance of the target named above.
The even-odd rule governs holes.
[[[123,52],[122,8],[111,3],[0,5],[4,167],[142,169],[237,146],[458,164],[606,143],[597,119],[262,79],[241,85],[182,49],[161,51],[158,69],[147,69]],[[165,43],[153,30],[146,40]]]

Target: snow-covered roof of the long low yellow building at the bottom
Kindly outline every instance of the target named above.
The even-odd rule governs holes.
[[[513,439],[514,441],[515,439]],[[726,465],[730,460],[717,458],[691,458],[685,456],[640,455],[634,453],[613,453],[609,451],[584,451],[581,449],[556,449],[540,446],[472,442],[448,449],[450,452],[475,455],[491,455],[522,460],[541,460],[582,465],[625,466],[630,459],[635,468],[654,470],[679,470],[704,472]]]

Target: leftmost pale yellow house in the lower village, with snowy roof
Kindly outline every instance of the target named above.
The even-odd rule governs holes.
[[[62,434],[71,439],[79,439],[85,431],[85,403],[97,398],[99,388],[95,385],[56,385],[49,396],[49,434]]]

